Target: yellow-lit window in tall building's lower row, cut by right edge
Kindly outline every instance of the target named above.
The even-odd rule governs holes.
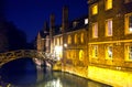
[[[125,45],[125,51],[124,51],[125,59],[127,61],[132,61],[132,45]]]

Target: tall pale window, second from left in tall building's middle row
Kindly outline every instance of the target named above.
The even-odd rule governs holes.
[[[106,21],[106,36],[112,36],[112,19]]]

